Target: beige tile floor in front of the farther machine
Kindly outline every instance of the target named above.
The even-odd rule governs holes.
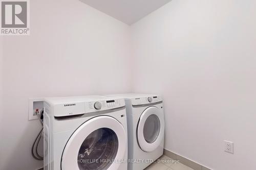
[[[175,163],[173,159],[163,155],[155,163],[144,170],[194,170],[182,163]]]

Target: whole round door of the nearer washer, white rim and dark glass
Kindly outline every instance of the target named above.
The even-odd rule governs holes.
[[[70,137],[61,169],[116,170],[126,151],[126,132],[113,117],[98,116],[82,124]]]

